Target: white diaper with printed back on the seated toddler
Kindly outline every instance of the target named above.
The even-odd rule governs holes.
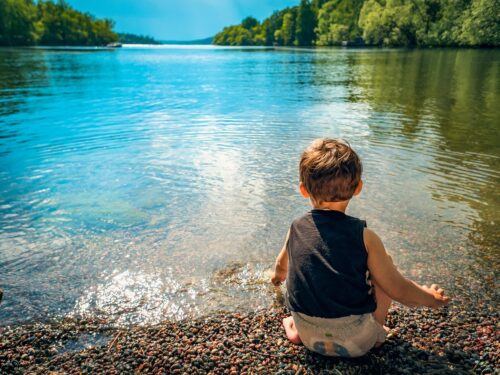
[[[371,313],[325,319],[292,311],[292,317],[304,346],[326,356],[360,357],[386,337]]]

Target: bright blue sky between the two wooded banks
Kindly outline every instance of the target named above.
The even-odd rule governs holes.
[[[215,35],[246,16],[259,20],[299,0],[67,0],[98,18],[111,18],[115,31],[158,40],[192,40]]]

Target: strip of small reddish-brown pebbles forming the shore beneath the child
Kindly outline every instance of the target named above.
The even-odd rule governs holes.
[[[0,328],[0,374],[498,374],[498,312],[466,301],[390,313],[386,344],[358,359],[287,342],[284,308],[116,328],[62,320]]]

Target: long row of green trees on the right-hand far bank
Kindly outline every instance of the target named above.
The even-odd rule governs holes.
[[[499,47],[500,0],[301,0],[225,27],[238,46]]]

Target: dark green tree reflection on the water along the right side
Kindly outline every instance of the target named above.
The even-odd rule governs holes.
[[[466,202],[479,216],[475,239],[498,245],[500,52],[371,51],[352,56],[354,84],[372,107],[372,137],[430,156],[426,172],[434,199]]]

